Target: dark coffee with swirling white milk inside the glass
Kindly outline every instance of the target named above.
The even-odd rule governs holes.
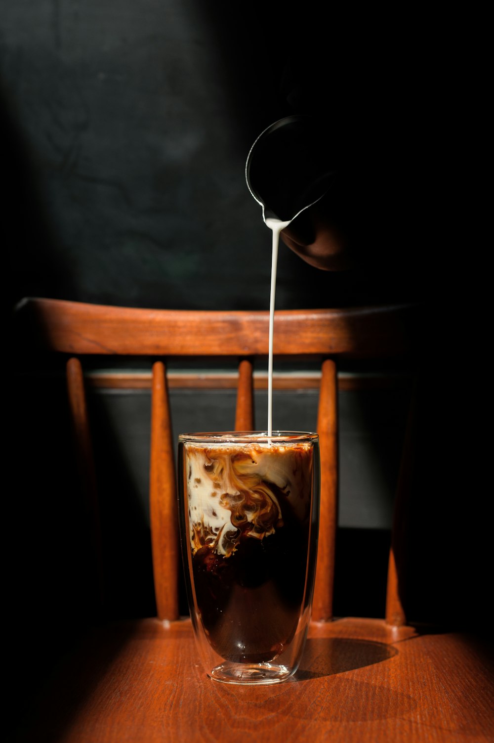
[[[298,438],[183,444],[195,600],[225,660],[273,660],[303,613],[313,447]]]

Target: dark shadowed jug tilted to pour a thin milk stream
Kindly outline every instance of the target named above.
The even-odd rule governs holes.
[[[352,265],[346,235],[351,212],[348,175],[340,172],[326,120],[300,114],[259,134],[245,178],[262,217],[289,223],[281,238],[309,264],[325,270]]]

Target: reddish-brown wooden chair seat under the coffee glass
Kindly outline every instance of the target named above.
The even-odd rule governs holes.
[[[207,678],[189,620],[108,626],[70,663],[26,720],[26,743],[493,740],[492,655],[426,627],[313,623],[296,677],[267,687]]]

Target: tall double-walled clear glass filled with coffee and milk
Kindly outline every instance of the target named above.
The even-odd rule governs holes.
[[[299,666],[311,618],[318,435],[182,434],[178,491],[204,669],[233,684],[285,681]]]

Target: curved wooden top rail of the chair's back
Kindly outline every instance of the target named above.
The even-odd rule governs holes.
[[[417,305],[282,310],[275,313],[279,356],[406,354]],[[66,354],[259,356],[268,351],[267,311],[152,310],[26,298],[16,322],[38,348]]]

